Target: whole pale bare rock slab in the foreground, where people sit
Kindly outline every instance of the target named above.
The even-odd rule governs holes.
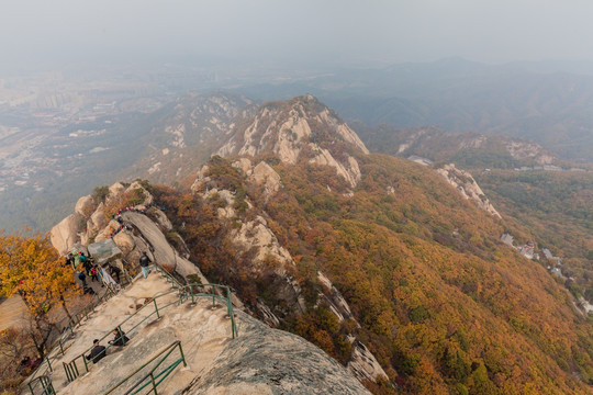
[[[89,364],[89,373],[68,383],[63,369],[54,370],[52,381],[56,392],[102,394],[132,375],[115,392],[124,393],[147,373],[144,370],[134,375],[142,364],[179,341],[184,364],[163,376],[159,394],[370,395],[347,369],[301,337],[270,329],[235,309],[239,332],[233,339],[226,308],[220,304],[212,308],[210,298],[175,303],[178,293],[167,294],[168,291],[165,279],[152,273],[148,279],[134,281],[91,313],[83,325],[75,328],[75,336],[68,338],[65,356],[56,356],[56,365],[87,352],[92,339],[109,334],[135,313],[137,305],[155,300],[160,306],[159,318],[154,316],[133,329],[131,323],[124,324],[122,329],[126,330],[130,342],[125,347],[110,347],[105,358]],[[102,343],[107,346],[107,341]],[[179,350],[174,350],[158,371],[179,357]],[[80,369],[85,372],[85,368]]]

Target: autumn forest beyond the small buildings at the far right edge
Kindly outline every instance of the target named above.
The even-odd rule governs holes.
[[[478,181],[510,223],[562,259],[557,280],[593,303],[593,173],[493,170]],[[545,257],[541,264],[557,266]]]

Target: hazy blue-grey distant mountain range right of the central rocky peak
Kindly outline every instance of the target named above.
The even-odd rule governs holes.
[[[569,65],[570,66],[570,65]],[[532,139],[564,160],[592,162],[593,66],[485,65],[462,58],[346,69],[290,83],[244,87],[253,98],[311,92],[345,120],[395,128]],[[586,72],[589,71],[589,72]]]

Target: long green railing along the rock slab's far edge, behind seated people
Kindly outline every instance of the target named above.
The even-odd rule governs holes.
[[[181,286],[177,281],[176,281],[176,283],[179,286]],[[199,289],[203,289],[203,290],[210,289],[211,292],[210,293],[195,292],[197,289],[198,290]],[[175,301],[169,302],[169,303],[165,302],[164,304],[160,304],[160,306],[159,306],[159,304],[158,304],[159,300],[161,300],[165,296],[168,296],[168,295],[170,295],[172,293],[176,293],[176,292],[179,293],[178,298],[176,298]],[[226,296],[221,296],[220,293],[226,294]],[[109,332],[103,335],[103,337],[101,337],[99,339],[99,341],[101,342],[102,340],[104,340],[108,336],[111,335],[111,332],[113,330],[118,330],[120,334],[122,334],[122,332],[130,334],[134,329],[139,327],[141,324],[143,324],[144,321],[146,321],[148,318],[153,317],[154,315],[156,315],[157,318],[160,318],[160,312],[163,309],[165,309],[165,308],[167,308],[169,306],[172,306],[172,305],[180,305],[181,303],[183,303],[184,301],[188,301],[190,298],[191,298],[192,304],[195,304],[195,298],[198,298],[198,297],[209,297],[209,298],[211,297],[213,308],[216,306],[216,300],[223,301],[226,304],[227,316],[231,319],[231,336],[232,336],[233,339],[235,339],[238,336],[238,332],[237,332],[237,327],[236,327],[235,317],[234,317],[234,313],[233,313],[233,303],[231,302],[231,290],[230,290],[230,287],[226,286],[226,285],[220,285],[220,284],[189,284],[189,285],[181,286],[179,290],[171,290],[171,291],[165,292],[163,294],[156,295],[155,297],[153,297],[153,300],[149,303],[142,306],[133,315],[131,315],[130,317],[124,319],[122,323],[120,323],[115,328],[111,329]],[[134,326],[126,329],[125,331],[122,329],[122,327],[130,319],[132,319],[133,317],[136,317],[138,315],[138,313],[143,312],[145,308],[148,308],[148,307],[154,307],[154,312],[149,313],[141,321],[136,323]],[[104,350],[105,354],[107,354],[107,351],[113,345],[109,345],[109,346],[105,347],[105,350]],[[88,362],[88,360],[86,358],[86,354],[89,353],[91,349],[92,349],[92,347],[87,349],[81,354],[75,357],[70,362],[67,362],[67,363],[63,362],[64,370],[66,372],[66,377],[68,379],[68,382],[72,382],[74,380],[76,380],[81,374],[81,372],[82,373],[89,372],[89,362]],[[82,368],[85,369],[83,371],[82,371]]]

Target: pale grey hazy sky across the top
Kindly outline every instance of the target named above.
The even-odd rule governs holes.
[[[590,0],[0,0],[2,63],[593,59]]]

